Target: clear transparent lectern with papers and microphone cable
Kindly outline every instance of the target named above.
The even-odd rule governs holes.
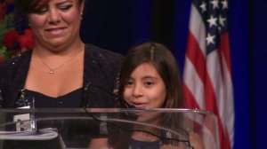
[[[0,110],[0,149],[160,146],[219,149],[216,116],[200,110],[166,108]]]

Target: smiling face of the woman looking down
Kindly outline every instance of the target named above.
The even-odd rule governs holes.
[[[28,14],[28,21],[36,36],[36,43],[60,47],[79,41],[79,27],[83,5],[78,0],[50,0],[47,5]]]

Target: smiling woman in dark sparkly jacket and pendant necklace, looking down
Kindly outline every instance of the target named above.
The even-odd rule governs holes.
[[[28,18],[36,47],[1,64],[0,106],[114,106],[110,95],[93,86],[89,91],[87,88],[88,84],[97,84],[111,92],[122,56],[81,41],[79,28],[84,3],[84,0],[14,2],[18,18]],[[88,92],[90,98],[84,97]]]

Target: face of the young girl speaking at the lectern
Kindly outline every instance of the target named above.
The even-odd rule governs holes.
[[[134,69],[125,85],[124,98],[137,108],[161,108],[166,99],[166,85],[153,65],[142,63]],[[139,119],[143,116],[139,115]],[[149,117],[143,120],[153,119],[152,114],[146,116]]]

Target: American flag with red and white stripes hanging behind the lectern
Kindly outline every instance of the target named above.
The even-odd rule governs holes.
[[[191,0],[183,71],[185,106],[217,115],[221,149],[233,146],[233,91],[227,0]]]

